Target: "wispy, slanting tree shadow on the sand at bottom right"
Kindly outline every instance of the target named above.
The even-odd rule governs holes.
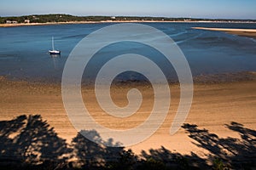
[[[189,138],[194,144],[210,152],[208,160],[223,167],[235,169],[251,169],[256,167],[256,131],[243,127],[242,124],[231,122],[225,127],[240,134],[241,139],[219,138],[217,134],[209,133],[207,129],[200,129],[195,124],[184,124],[183,128],[189,132]]]

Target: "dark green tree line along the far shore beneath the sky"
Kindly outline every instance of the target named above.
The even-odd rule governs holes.
[[[72,22],[72,21],[108,21],[108,20],[138,20],[138,21],[223,21],[223,22],[256,22],[256,20],[228,20],[228,19],[195,19],[195,18],[169,18],[169,17],[141,17],[141,16],[73,16],[70,14],[33,14],[24,16],[0,17],[0,24],[8,21],[17,23],[47,23],[47,22]]]

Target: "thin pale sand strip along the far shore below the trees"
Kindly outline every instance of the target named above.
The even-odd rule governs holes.
[[[69,24],[100,24],[100,23],[241,23],[255,24],[247,21],[213,21],[213,20],[102,20],[102,21],[69,21],[69,22],[46,22],[46,23],[16,23],[0,24],[0,27],[17,27],[17,26],[53,26]]]

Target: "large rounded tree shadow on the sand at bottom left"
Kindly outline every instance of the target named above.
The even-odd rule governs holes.
[[[5,165],[56,164],[66,161],[72,149],[39,115],[18,116],[0,122],[0,161]],[[24,167],[25,168],[25,167]]]

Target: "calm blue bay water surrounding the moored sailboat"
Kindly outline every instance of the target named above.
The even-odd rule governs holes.
[[[84,24],[60,26],[23,26],[0,28],[0,76],[29,81],[61,81],[61,74],[69,53],[75,45],[92,31],[110,24]],[[238,37],[218,31],[194,30],[194,26],[256,28],[256,24],[212,24],[212,23],[148,23],[177,42],[183,50],[193,76],[224,72],[256,71],[256,40]],[[51,48],[51,37],[55,37],[55,48],[61,57],[47,54]],[[149,54],[155,62],[165,63],[159,54],[141,44],[124,43],[111,45],[101,51],[101,56],[90,62],[92,72],[112,54],[140,52]],[[175,71],[166,71],[166,77],[175,78]],[[123,79],[140,79],[140,75],[124,74]]]

